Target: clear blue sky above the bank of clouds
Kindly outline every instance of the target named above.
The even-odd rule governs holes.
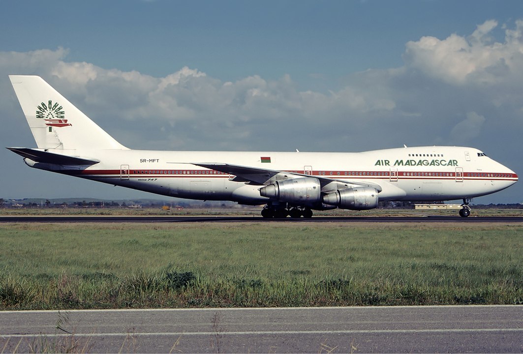
[[[196,67],[223,81],[343,75],[401,66],[407,41],[469,35],[520,1],[0,1],[4,51],[69,49],[67,60],[168,75]],[[23,14],[23,15],[22,15]],[[496,31],[502,38],[503,31]],[[11,33],[11,35],[9,35]],[[308,87],[304,87],[308,88]]]

